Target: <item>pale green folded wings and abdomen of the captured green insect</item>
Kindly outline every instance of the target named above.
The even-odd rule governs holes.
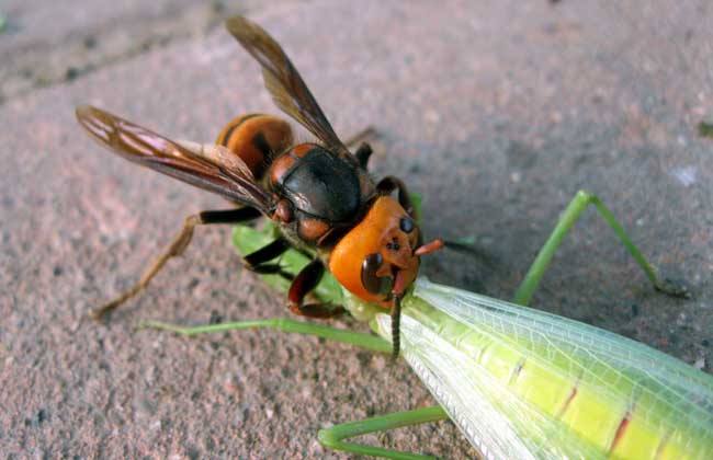
[[[388,315],[376,327],[388,337]],[[419,279],[401,344],[486,458],[713,451],[713,378],[620,335]]]

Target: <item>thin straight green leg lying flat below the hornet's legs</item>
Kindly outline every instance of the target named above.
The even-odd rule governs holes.
[[[159,321],[146,321],[139,324],[139,329],[158,329],[161,331],[171,331],[177,334],[191,336],[206,334],[212,332],[239,331],[244,329],[274,329],[282,332],[294,332],[297,334],[314,335],[317,337],[329,338],[330,341],[342,342],[346,344],[356,345],[372,352],[392,353],[392,344],[383,338],[371,334],[344,331],[324,326],[320,324],[305,323],[287,318],[270,318],[267,320],[235,321],[220,324],[210,324],[201,326],[179,326],[176,324],[162,323]]]

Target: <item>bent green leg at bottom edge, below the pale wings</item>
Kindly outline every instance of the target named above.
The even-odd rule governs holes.
[[[422,423],[438,422],[448,418],[448,414],[440,406],[416,409],[407,412],[381,415],[359,422],[350,422],[319,430],[319,442],[333,450],[343,450],[362,456],[383,457],[387,459],[432,459],[431,456],[400,452],[381,447],[363,444],[344,442],[343,439],[369,433],[384,432],[404,426],[420,425]]]

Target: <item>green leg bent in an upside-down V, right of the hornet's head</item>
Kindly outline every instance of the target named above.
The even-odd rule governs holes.
[[[522,306],[530,303],[532,295],[534,294],[535,289],[537,289],[540,280],[547,269],[547,266],[550,266],[550,262],[552,262],[552,257],[557,248],[559,248],[562,240],[565,238],[569,229],[571,229],[571,227],[575,225],[577,219],[579,219],[579,216],[590,205],[593,205],[604,221],[609,223],[609,227],[611,227],[614,233],[616,233],[616,237],[619,237],[622,244],[624,244],[624,248],[626,248],[629,253],[634,257],[638,266],[642,267],[656,289],[670,296],[690,297],[689,291],[684,287],[677,286],[672,281],[659,278],[656,269],[652,266],[652,264],[648,263],[646,257],[644,257],[641,251],[634,245],[621,223],[619,223],[619,221],[616,221],[614,218],[614,215],[601,203],[597,196],[585,191],[579,191],[559,217],[557,226],[540,250],[540,253],[537,254],[535,261],[530,266],[528,274],[525,275],[522,284],[514,295],[514,299],[512,300],[514,303]]]

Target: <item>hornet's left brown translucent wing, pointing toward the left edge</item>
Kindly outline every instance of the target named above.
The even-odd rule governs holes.
[[[271,195],[245,171],[214,163],[172,140],[92,106],[78,107],[77,119],[93,138],[134,163],[264,214],[273,207]]]

